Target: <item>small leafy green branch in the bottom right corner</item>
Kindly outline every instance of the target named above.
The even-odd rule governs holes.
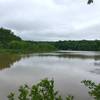
[[[95,84],[90,80],[84,80],[82,83],[89,88],[89,94],[95,99],[100,100],[100,83]]]

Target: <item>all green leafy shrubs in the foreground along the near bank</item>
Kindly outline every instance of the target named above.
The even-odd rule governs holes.
[[[89,94],[94,100],[100,100],[100,84],[95,84],[90,80],[84,80],[82,83],[89,88]],[[18,95],[11,92],[8,100],[74,100],[74,96],[68,95],[66,98],[59,95],[54,90],[54,80],[44,79],[38,84],[29,87],[28,85],[20,86]]]

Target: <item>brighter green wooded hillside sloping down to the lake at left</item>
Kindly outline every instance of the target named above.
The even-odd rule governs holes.
[[[0,28],[0,52],[32,53],[49,52],[56,48],[47,42],[24,41],[11,30]]]

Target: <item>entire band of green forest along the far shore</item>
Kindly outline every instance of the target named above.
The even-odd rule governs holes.
[[[25,41],[11,30],[0,28],[0,52],[32,53],[56,50],[100,51],[100,40]]]

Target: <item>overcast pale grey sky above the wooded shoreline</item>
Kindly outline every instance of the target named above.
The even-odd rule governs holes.
[[[100,39],[100,0],[0,0],[0,27],[25,40]]]

